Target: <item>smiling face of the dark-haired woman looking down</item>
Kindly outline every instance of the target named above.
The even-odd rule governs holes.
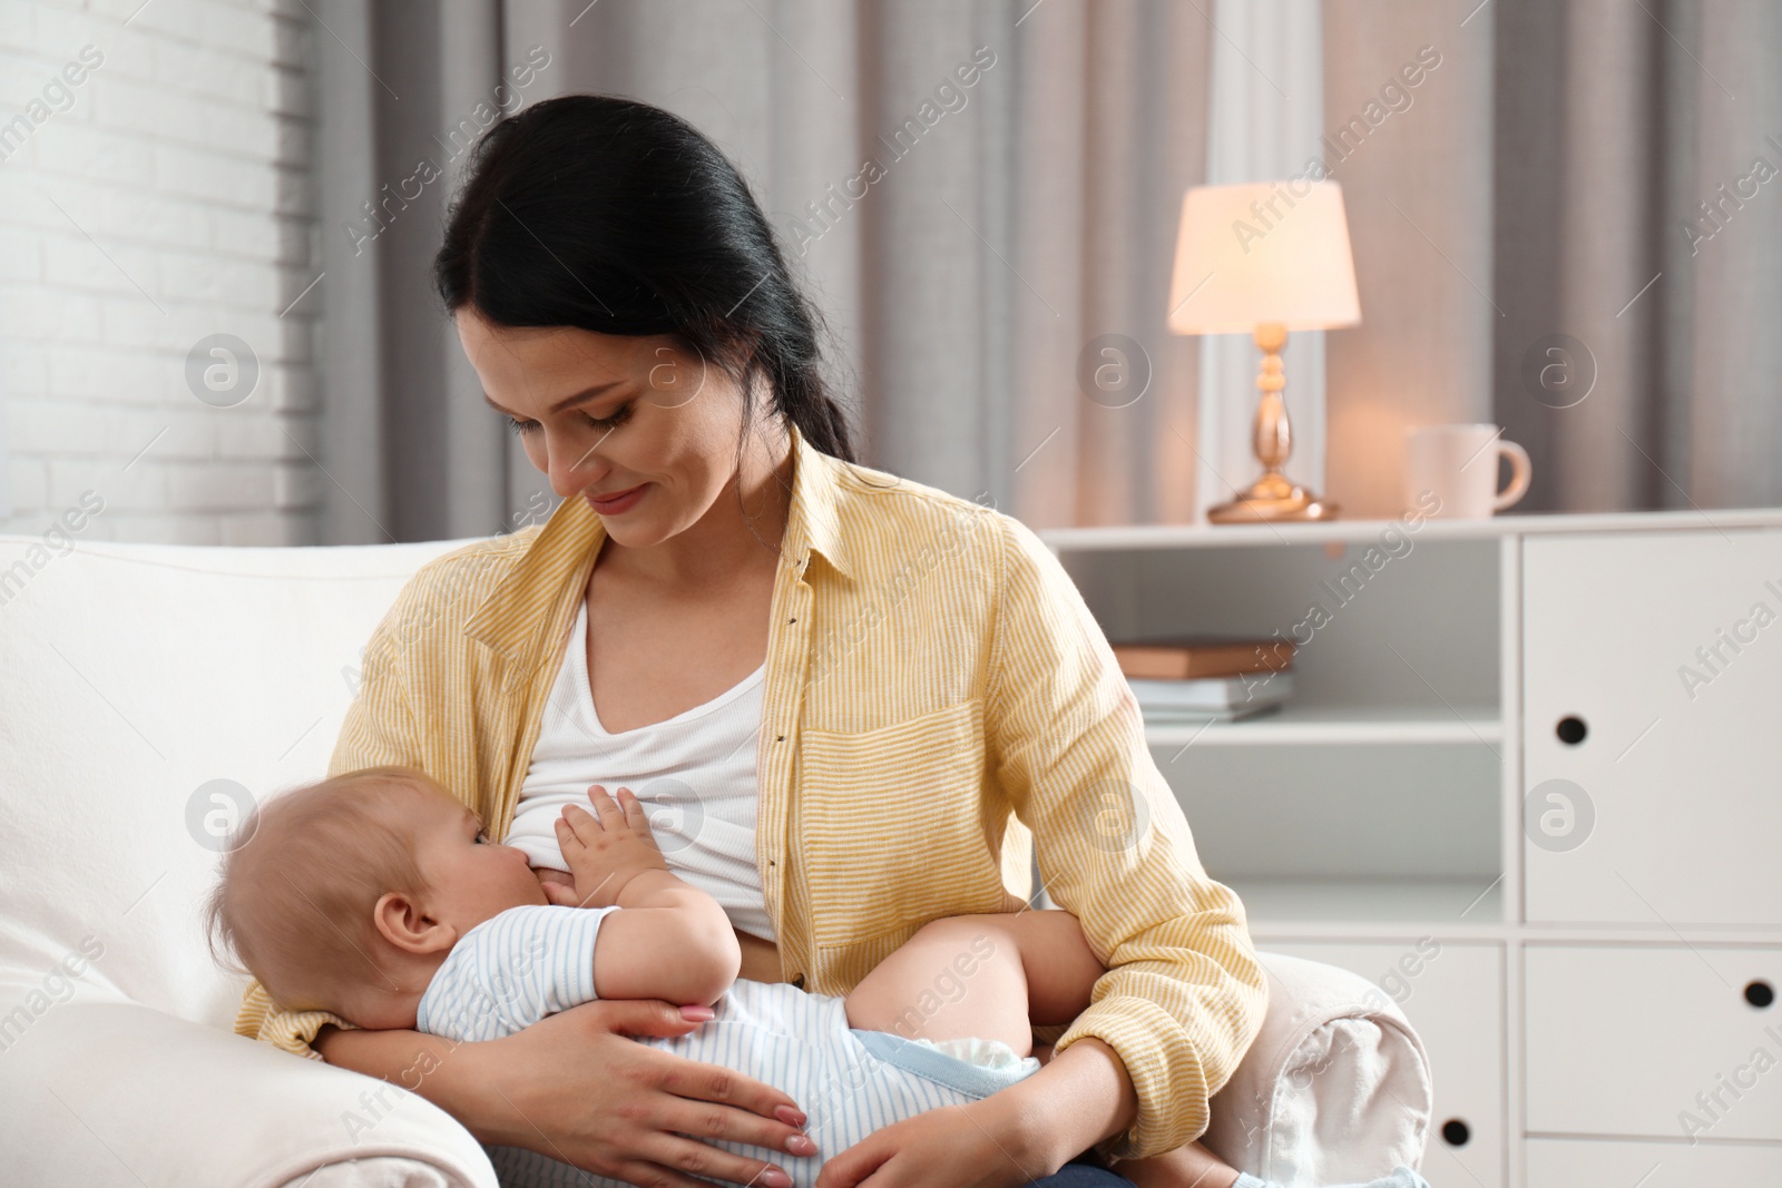
[[[485,399],[563,499],[586,499],[620,545],[686,531],[736,470],[741,388],[665,335],[454,317]]]

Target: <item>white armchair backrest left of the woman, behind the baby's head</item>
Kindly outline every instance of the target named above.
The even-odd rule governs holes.
[[[233,1022],[244,980],[198,928],[219,842],[189,828],[192,796],[321,778],[372,627],[462,543],[55,556],[0,536],[0,1008],[62,992],[86,940],[102,956],[78,997]]]

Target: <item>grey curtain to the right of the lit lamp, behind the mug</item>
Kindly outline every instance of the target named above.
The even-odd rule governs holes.
[[[1402,427],[1449,420],[1529,449],[1518,511],[1782,502],[1782,5],[1326,0],[1329,134],[1420,46],[1410,105],[1320,148],[1361,289],[1344,513],[1395,515]]]

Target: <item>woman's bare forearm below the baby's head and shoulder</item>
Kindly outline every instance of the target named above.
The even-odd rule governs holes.
[[[323,1060],[421,1094],[453,1115],[481,1143],[511,1142],[511,1108],[492,1108],[492,1081],[481,1070],[488,1042],[458,1044],[422,1031],[369,1031],[324,1026],[310,1044]]]

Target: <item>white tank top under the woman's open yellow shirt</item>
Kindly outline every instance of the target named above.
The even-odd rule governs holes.
[[[531,864],[568,869],[554,821],[588,807],[588,785],[629,787],[645,803],[656,844],[675,875],[723,907],[731,924],[773,940],[756,867],[756,741],[766,664],[704,705],[636,730],[608,734],[588,688],[588,604],[576,611],[545,705],[506,844]]]

